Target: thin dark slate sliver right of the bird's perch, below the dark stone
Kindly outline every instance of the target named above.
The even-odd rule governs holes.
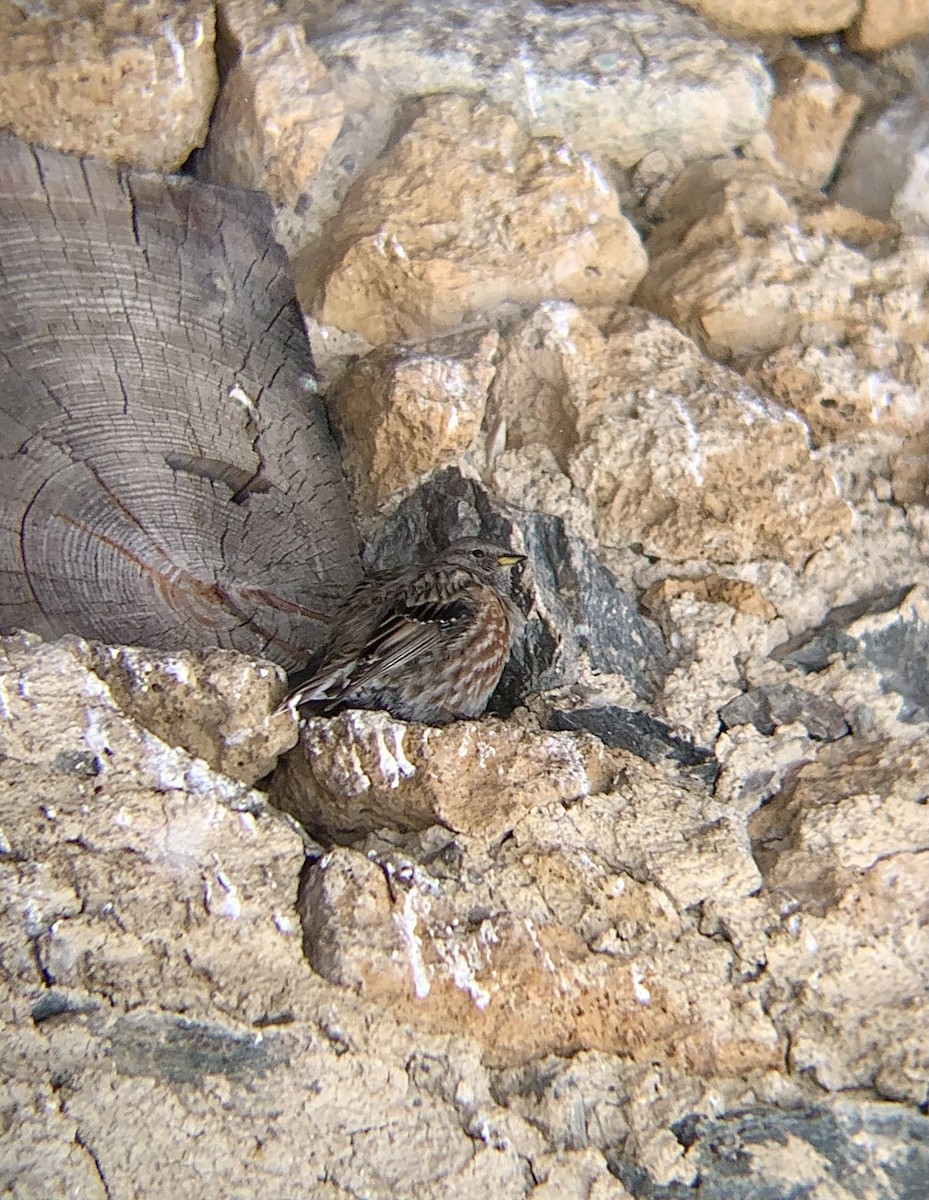
[[[712,787],[719,774],[713,751],[677,737],[671,727],[648,713],[635,713],[617,704],[597,708],[558,709],[549,718],[550,730],[587,730],[606,745],[628,750],[646,762],[672,762]]]

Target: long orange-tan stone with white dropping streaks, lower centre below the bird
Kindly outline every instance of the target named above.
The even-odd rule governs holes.
[[[450,881],[352,850],[330,852],[301,894],[310,961],[426,1030],[467,1031],[492,1066],[585,1048],[700,1074],[777,1062],[777,1038],[750,985],[727,983],[726,949],[687,934],[655,946],[649,931],[639,943],[591,953],[570,919],[544,916],[546,900],[532,883],[535,854],[520,848],[504,910],[484,872]],[[621,912],[622,893],[604,890],[609,881],[592,866],[575,859],[562,870]],[[505,886],[505,874],[496,882]]]

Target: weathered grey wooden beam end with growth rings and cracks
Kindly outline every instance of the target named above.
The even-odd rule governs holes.
[[[269,206],[0,139],[0,625],[286,667],[360,576]]]

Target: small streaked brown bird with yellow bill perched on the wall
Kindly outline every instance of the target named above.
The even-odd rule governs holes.
[[[525,559],[464,538],[431,563],[372,575],[336,613],[328,644],[290,677],[281,708],[383,708],[428,725],[480,716],[523,624],[507,571]]]

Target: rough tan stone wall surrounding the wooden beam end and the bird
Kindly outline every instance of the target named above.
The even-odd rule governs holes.
[[[857,13],[868,49],[916,22],[700,8],[220,0],[193,166],[278,205],[365,563],[483,532],[527,556],[526,626],[493,715],[442,728],[298,730],[228,652],[0,641],[0,1192],[922,1200],[929,251],[893,208],[918,145],[865,170],[880,212],[814,188],[858,102],[924,72],[707,24]],[[138,110],[107,71],[143,62],[137,142],[186,156],[215,76],[176,122],[161,85],[188,96],[199,10],[73,11],[17,10],[38,49],[0,96],[38,64],[65,113],[80,59],[96,151]],[[188,227],[185,254],[230,236]],[[292,427],[256,432],[312,492]]]

